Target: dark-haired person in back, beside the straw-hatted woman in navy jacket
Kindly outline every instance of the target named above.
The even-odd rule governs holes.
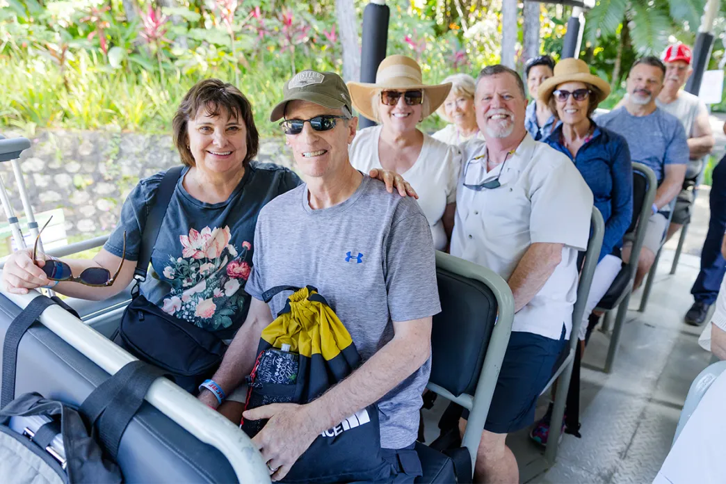
[[[524,65],[524,80],[532,98],[527,106],[524,126],[534,141],[544,141],[557,126],[557,112],[550,110],[547,102],[537,99],[537,89],[554,75],[555,61],[548,55],[532,57]]]

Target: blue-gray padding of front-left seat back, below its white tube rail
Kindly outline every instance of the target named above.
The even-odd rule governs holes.
[[[0,295],[0,338],[20,308]],[[1,345],[0,345],[1,352]],[[15,394],[38,392],[80,404],[109,374],[50,329],[34,324],[20,341]],[[198,440],[148,402],[121,439],[118,464],[127,483],[230,483],[227,458]]]

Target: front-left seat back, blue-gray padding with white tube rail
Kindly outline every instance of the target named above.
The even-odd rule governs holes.
[[[32,298],[0,295],[0,338],[4,340],[9,324],[20,313],[16,303],[27,303]],[[43,324],[34,324],[20,341],[15,395],[38,392],[46,398],[79,405],[110,373],[118,371],[107,372],[102,367],[105,361],[123,356],[125,359],[118,362],[120,367],[134,359],[59,306],[47,308],[40,320]],[[95,353],[102,356],[97,358]],[[118,464],[125,482],[236,482],[240,475],[261,482],[267,477],[261,458],[258,467],[250,467],[256,453],[247,448],[251,443],[244,432],[206,409],[192,395],[160,378],[146,399],[121,439]],[[211,433],[203,435],[196,432],[197,428],[208,428]],[[245,456],[244,451],[252,452]],[[240,463],[245,469],[242,472]]]

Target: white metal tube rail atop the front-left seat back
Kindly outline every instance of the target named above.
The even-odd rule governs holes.
[[[35,290],[25,295],[1,293],[20,308],[25,308],[40,295]],[[136,359],[59,305],[46,308],[38,320],[109,374],[115,374]],[[184,430],[219,449],[232,465],[240,483],[270,482],[266,464],[252,440],[227,418],[166,378],[158,378],[145,398]]]

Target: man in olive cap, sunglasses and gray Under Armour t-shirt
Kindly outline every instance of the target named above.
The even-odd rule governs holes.
[[[220,373],[235,385],[250,374],[262,330],[290,295],[281,292],[266,304],[264,292],[316,287],[364,363],[314,401],[246,411],[245,419],[269,419],[253,441],[280,480],[321,432],[378,403],[390,480],[413,483],[422,474],[413,446],[431,372],[431,322],[441,311],[428,221],[414,198],[388,193],[351,165],[348,144],[358,122],[339,75],[295,75],[272,110],[270,120],[280,119],[305,183],[260,211],[245,286],[253,296],[250,312]]]

